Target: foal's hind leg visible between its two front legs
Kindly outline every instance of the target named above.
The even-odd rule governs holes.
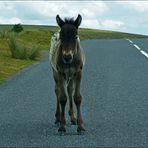
[[[76,125],[76,118],[74,116],[74,110],[73,110],[73,92],[74,92],[74,85],[73,85],[73,80],[70,80],[68,84],[68,96],[69,96],[69,116],[71,123],[73,125]]]

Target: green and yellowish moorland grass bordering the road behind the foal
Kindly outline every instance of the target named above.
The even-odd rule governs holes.
[[[40,53],[49,49],[52,34],[59,29],[56,26],[23,25],[24,31],[14,34],[15,41],[12,40],[10,43],[12,27],[13,25],[0,25],[0,81],[32,64],[36,57],[39,60]],[[82,28],[80,28],[79,34],[80,40],[148,38],[145,35]],[[17,49],[15,52],[22,52],[16,55],[22,54],[26,57],[29,54],[29,57],[12,56],[12,48]]]

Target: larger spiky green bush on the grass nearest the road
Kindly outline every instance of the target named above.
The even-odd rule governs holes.
[[[15,36],[11,35],[9,37],[8,45],[10,48],[12,58],[16,59],[30,59],[36,60],[40,56],[40,51],[38,48],[26,48],[25,46],[18,44],[16,42]]]

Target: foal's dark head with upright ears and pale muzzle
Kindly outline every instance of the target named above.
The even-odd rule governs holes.
[[[62,20],[60,16],[57,15],[56,21],[60,27],[60,49],[62,51],[63,62],[71,63],[73,56],[77,53],[78,27],[81,24],[82,17],[79,14],[75,20],[73,18],[65,18]]]

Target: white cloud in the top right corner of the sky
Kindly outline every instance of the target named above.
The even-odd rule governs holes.
[[[148,1],[118,1],[117,4],[138,12],[148,11]]]

